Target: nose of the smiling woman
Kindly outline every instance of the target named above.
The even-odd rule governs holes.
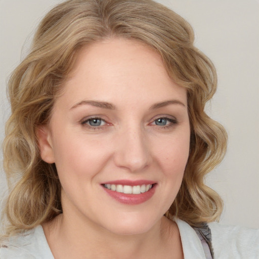
[[[116,166],[131,172],[146,168],[152,160],[147,136],[141,128],[126,128],[117,135],[114,154]]]

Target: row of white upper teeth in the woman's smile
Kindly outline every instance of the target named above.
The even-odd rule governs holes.
[[[121,192],[125,194],[140,194],[149,191],[152,188],[152,184],[148,185],[136,185],[136,186],[130,186],[130,185],[115,185],[115,184],[105,184],[105,188],[116,191],[116,192]]]

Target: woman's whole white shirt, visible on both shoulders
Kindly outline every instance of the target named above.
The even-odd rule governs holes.
[[[205,259],[201,241],[193,228],[182,220],[175,221],[181,235],[184,258]],[[259,259],[259,230],[218,223],[208,225],[211,229],[214,259]],[[3,245],[0,248],[0,259],[55,259],[41,226],[12,238]]]

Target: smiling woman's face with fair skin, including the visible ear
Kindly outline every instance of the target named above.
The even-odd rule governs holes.
[[[64,217],[144,233],[182,182],[190,140],[186,90],[150,47],[107,39],[78,53],[44,131],[41,157],[56,164]]]

